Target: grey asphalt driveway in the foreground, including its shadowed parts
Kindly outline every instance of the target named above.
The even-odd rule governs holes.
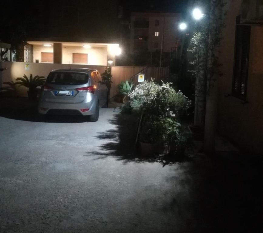
[[[249,232],[262,219],[255,167],[138,155],[137,118],[114,108],[88,122],[27,107],[0,111],[1,233]]]

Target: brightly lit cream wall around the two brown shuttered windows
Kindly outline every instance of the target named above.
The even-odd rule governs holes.
[[[41,52],[53,52],[53,46],[45,47],[43,45],[34,45],[33,60],[41,61]],[[72,53],[87,53],[88,64],[106,66],[107,65],[107,47],[91,47],[85,49],[83,46],[62,46],[62,64],[72,64]]]

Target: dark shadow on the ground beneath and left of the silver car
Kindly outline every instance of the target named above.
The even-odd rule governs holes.
[[[48,116],[37,112],[37,101],[27,98],[0,98],[0,116],[24,121],[49,122],[49,123],[82,123],[88,118],[83,116]]]

